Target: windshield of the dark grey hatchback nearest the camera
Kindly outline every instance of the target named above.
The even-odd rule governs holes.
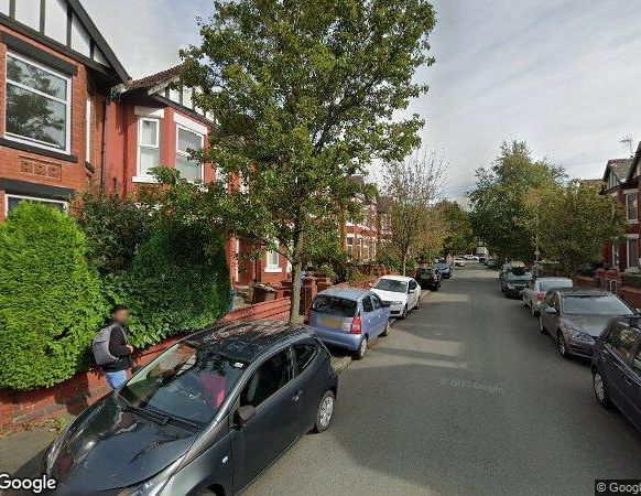
[[[205,424],[246,367],[245,362],[182,342],[135,374],[120,396],[133,407]]]

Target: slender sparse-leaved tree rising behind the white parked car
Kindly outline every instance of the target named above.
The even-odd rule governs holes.
[[[408,257],[425,248],[426,235],[435,228],[434,204],[442,195],[444,174],[445,165],[435,152],[385,165],[384,190],[391,198],[391,241],[399,251],[403,274]]]

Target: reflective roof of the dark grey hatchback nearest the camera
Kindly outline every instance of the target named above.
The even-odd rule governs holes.
[[[251,363],[280,344],[312,335],[312,331],[305,325],[293,325],[282,321],[256,321],[214,325],[192,334],[184,341],[232,359]]]

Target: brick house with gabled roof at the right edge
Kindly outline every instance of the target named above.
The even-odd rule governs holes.
[[[619,271],[639,271],[639,163],[641,144],[632,159],[609,160],[604,172],[604,194],[623,205],[628,226],[626,239],[604,248],[606,266]]]

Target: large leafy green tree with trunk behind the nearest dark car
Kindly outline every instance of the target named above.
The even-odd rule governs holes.
[[[215,2],[200,46],[182,52],[183,83],[217,122],[195,157],[249,183],[263,241],[292,263],[290,319],[298,321],[305,238],[374,158],[402,160],[423,120],[392,119],[426,91],[414,82],[434,10],[426,0]]]

